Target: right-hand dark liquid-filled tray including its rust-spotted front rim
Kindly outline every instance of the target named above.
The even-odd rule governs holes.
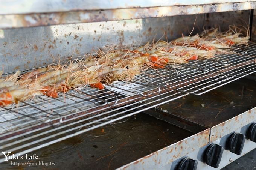
[[[210,141],[256,119],[256,82],[240,79],[205,95],[188,95],[160,106],[164,114],[174,114],[211,128]]]

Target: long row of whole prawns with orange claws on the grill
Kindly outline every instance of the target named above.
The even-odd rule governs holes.
[[[235,29],[234,29],[235,28]],[[75,59],[68,64],[49,65],[20,75],[1,77],[0,106],[6,106],[36,95],[56,98],[58,93],[81,86],[104,89],[103,83],[134,80],[135,75],[148,68],[165,68],[168,63],[187,63],[189,60],[211,58],[218,53],[230,53],[227,48],[247,44],[249,35],[242,37],[236,27],[225,33],[218,29],[206,30],[194,36],[182,36],[171,42],[147,43],[134,50],[106,48]]]

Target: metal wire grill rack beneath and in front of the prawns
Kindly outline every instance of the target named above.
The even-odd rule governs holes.
[[[105,84],[103,90],[85,86],[61,93],[56,99],[37,96],[18,106],[1,107],[0,150],[23,155],[177,98],[201,95],[256,72],[256,44],[239,47],[236,52],[185,65],[168,65],[165,69],[148,69],[134,81]],[[0,157],[0,162],[4,160]]]

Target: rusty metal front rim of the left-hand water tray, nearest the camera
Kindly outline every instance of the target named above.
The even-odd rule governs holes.
[[[144,156],[117,170],[157,169],[208,144],[210,128]],[[191,147],[193,146],[193,147]]]

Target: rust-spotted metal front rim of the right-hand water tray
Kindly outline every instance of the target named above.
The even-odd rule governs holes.
[[[210,142],[230,134],[256,119],[256,107],[211,128]]]

